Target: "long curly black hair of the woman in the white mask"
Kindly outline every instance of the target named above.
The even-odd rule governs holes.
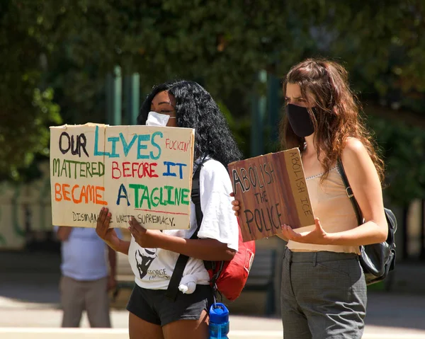
[[[176,98],[176,120],[179,127],[195,129],[195,159],[210,156],[226,168],[232,161],[242,159],[225,116],[210,93],[194,81],[172,81],[152,88],[140,108],[138,125],[146,125],[154,96],[167,91]]]

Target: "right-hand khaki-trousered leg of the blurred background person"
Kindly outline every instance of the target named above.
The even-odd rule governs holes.
[[[110,328],[108,277],[84,284],[86,285],[85,304],[90,326]]]

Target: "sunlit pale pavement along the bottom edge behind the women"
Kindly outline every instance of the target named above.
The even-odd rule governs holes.
[[[0,300],[1,301],[1,300]],[[420,301],[420,300],[417,300]],[[3,300],[3,305],[5,301]],[[1,306],[1,302],[0,302]],[[22,308],[21,306],[26,306]],[[419,305],[418,305],[419,306]],[[84,315],[81,328],[59,328],[62,311],[60,309],[31,309],[30,305],[19,304],[0,308],[1,339],[50,339],[50,338],[128,338],[128,312],[113,310],[111,318],[113,328],[89,328]],[[406,314],[406,316],[409,316]],[[418,317],[421,314],[418,314]],[[412,320],[412,318],[410,318]],[[391,320],[390,318],[388,319]],[[266,339],[283,338],[279,318],[261,318],[256,316],[231,316],[229,339]],[[425,330],[404,327],[367,325],[364,339],[419,339],[425,338]]]

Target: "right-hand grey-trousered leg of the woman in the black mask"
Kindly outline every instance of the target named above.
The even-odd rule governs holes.
[[[329,258],[320,260],[321,255]],[[357,258],[344,255],[319,253],[317,262],[300,263],[310,274],[298,280],[297,298],[314,339],[356,339],[363,335],[367,299],[363,270]]]

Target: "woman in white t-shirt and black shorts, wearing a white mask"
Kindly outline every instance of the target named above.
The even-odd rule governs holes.
[[[196,82],[155,86],[142,104],[137,123],[146,125],[152,114],[165,116],[168,127],[195,129],[193,170],[201,166],[203,212],[197,239],[191,239],[197,228],[193,202],[188,230],[147,230],[133,218],[129,228],[132,239],[122,241],[114,229],[108,229],[111,212],[105,208],[99,215],[96,231],[115,251],[128,254],[135,273],[135,287],[127,306],[131,339],[206,339],[213,292],[203,260],[232,260],[238,250],[239,230],[229,197],[232,184],[226,168],[230,162],[241,159],[242,154],[210,93]],[[183,279],[196,277],[196,284],[191,290],[181,289],[176,299],[171,300],[166,292],[180,254],[189,257]]]

